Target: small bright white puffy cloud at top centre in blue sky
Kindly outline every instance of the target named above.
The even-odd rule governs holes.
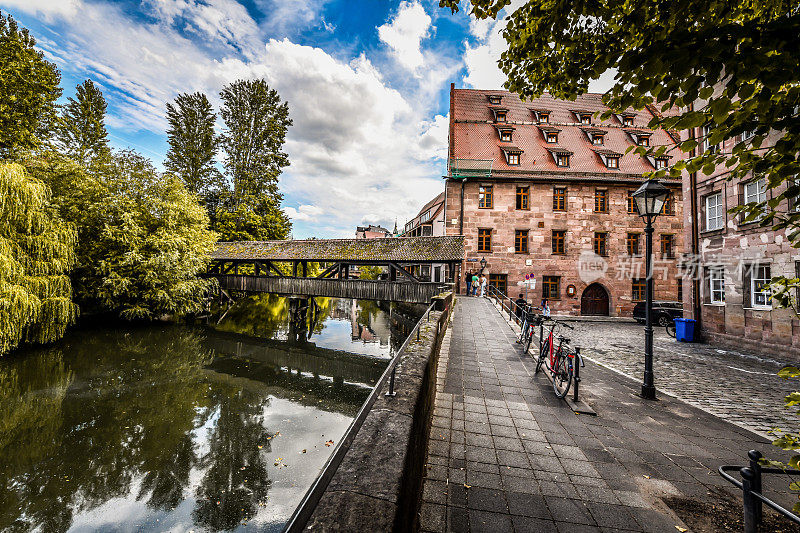
[[[419,2],[401,2],[394,19],[378,27],[378,37],[392,49],[401,65],[416,71],[425,62],[420,44],[430,26],[431,17]]]

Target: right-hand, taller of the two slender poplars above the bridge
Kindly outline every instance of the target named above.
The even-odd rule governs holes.
[[[220,140],[235,201],[268,194],[280,202],[278,177],[289,164],[282,151],[292,125],[289,105],[262,79],[235,81],[222,89],[220,98],[225,123]]]

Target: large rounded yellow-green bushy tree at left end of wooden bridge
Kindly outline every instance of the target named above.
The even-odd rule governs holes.
[[[54,154],[28,167],[78,228],[73,278],[82,306],[128,319],[202,310],[210,282],[197,274],[216,236],[178,178],[160,176],[134,152],[114,153],[92,172]]]

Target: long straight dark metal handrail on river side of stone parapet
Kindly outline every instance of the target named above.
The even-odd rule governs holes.
[[[330,457],[328,457],[328,460],[325,462],[325,465],[323,465],[322,470],[320,470],[319,474],[317,474],[314,483],[312,483],[311,487],[309,487],[309,489],[306,491],[305,496],[303,496],[300,504],[297,506],[297,508],[295,508],[292,516],[289,517],[289,520],[286,522],[286,526],[283,529],[284,533],[298,532],[305,528],[308,519],[311,518],[314,509],[316,509],[317,504],[319,504],[325,489],[328,488],[328,484],[333,478],[333,475],[336,473],[336,470],[339,468],[339,465],[342,463],[342,459],[344,459],[345,454],[353,444],[356,434],[364,424],[364,420],[366,420],[367,415],[369,414],[370,410],[372,410],[372,406],[375,405],[375,400],[378,399],[379,391],[381,388],[383,388],[387,380],[390,380],[390,386],[392,389],[391,392],[394,392],[395,370],[397,364],[400,362],[400,357],[405,353],[406,348],[411,343],[415,334],[416,340],[419,340],[420,326],[422,325],[423,321],[426,321],[426,317],[427,320],[430,320],[430,312],[435,305],[436,303],[434,302],[428,306],[420,319],[417,321],[414,329],[412,329],[411,333],[409,333],[408,337],[406,337],[403,345],[399,350],[397,350],[397,353],[394,355],[392,360],[389,361],[389,365],[386,367],[386,370],[384,370],[383,374],[381,374],[380,379],[378,379],[378,382],[375,384],[375,387],[373,387],[372,392],[370,392],[366,401],[361,406],[358,414],[355,416],[353,421],[350,422],[350,426],[348,426],[347,431],[344,432],[344,435],[339,440],[339,444],[333,450],[333,453],[331,453]],[[392,396],[393,395],[394,394],[392,394]]]

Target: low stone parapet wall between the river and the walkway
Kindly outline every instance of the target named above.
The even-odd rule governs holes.
[[[450,295],[443,310],[423,318],[419,340],[412,339],[398,363],[396,396],[385,396],[388,383],[379,391],[306,530],[416,528],[436,367],[453,301]]]

